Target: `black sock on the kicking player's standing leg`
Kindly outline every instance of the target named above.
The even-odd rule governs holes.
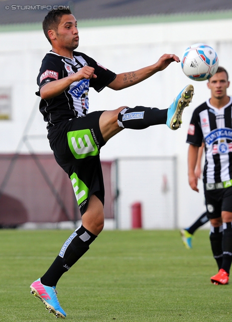
[[[56,286],[60,277],[87,252],[95,238],[96,236],[82,225],[78,227],[65,241],[59,255],[41,277],[41,283],[46,286]]]

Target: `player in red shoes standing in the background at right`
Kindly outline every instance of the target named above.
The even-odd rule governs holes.
[[[195,109],[189,125],[188,179],[191,188],[198,192],[194,169],[203,140],[204,194],[211,223],[210,243],[218,266],[211,282],[227,284],[232,262],[232,97],[226,94],[227,71],[219,66],[207,85],[211,98]]]

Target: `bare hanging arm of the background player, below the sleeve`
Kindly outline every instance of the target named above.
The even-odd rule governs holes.
[[[197,188],[198,178],[195,174],[197,155],[198,155],[198,146],[189,144],[188,148],[188,183],[192,190],[199,192]]]

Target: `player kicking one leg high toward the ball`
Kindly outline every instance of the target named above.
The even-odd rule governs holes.
[[[122,106],[88,114],[90,87],[97,92],[105,87],[125,89],[165,69],[171,62],[179,62],[179,58],[164,54],[151,66],[115,74],[84,53],[74,51],[79,35],[76,19],[69,10],[50,11],[43,30],[52,50],[44,57],[37,78],[40,111],[48,123],[48,139],[55,159],[71,179],[82,224],[65,241],[48,271],[32,283],[31,293],[56,317],[64,318],[66,313],[57,299],[56,284],[103,229],[100,148],[124,128],[167,124],[172,130],[178,129],[183,109],[191,102],[193,86],[186,86],[165,110]]]

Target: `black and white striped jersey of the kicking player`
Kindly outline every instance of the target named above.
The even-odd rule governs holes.
[[[41,100],[40,112],[48,125],[51,126],[62,120],[86,115],[88,113],[89,87],[100,92],[113,81],[116,74],[81,52],[73,51],[73,60],[52,51],[44,57],[37,77],[39,91],[36,95],[38,96],[40,96],[41,87],[48,82],[69,76],[86,65],[94,68],[97,78],[74,82],[62,94],[49,100]]]

